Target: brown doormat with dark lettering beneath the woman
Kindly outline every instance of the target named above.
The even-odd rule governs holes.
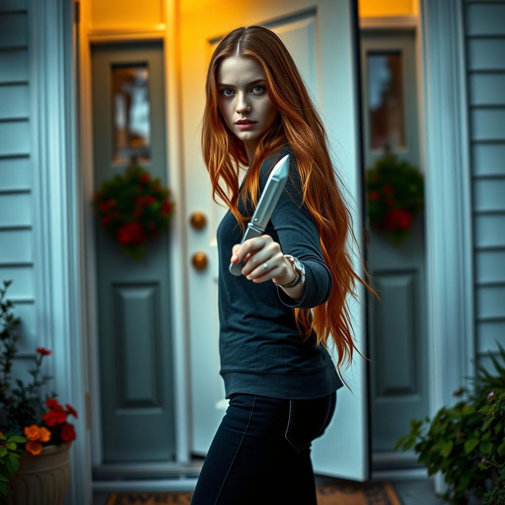
[[[401,505],[389,482],[342,480],[316,486],[318,505]],[[193,491],[111,493],[107,505],[190,505]],[[283,504],[279,504],[283,505]]]

